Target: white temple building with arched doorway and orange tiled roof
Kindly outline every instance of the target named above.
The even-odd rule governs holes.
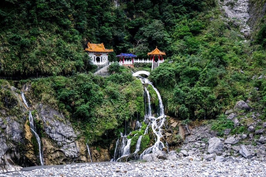
[[[113,52],[113,49],[106,49],[103,43],[91,44],[90,42],[88,42],[87,47],[84,51],[89,54],[93,64],[103,65],[108,63],[108,53]]]

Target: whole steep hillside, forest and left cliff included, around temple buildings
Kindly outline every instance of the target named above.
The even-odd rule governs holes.
[[[253,126],[264,136],[265,6],[255,0],[5,0],[0,6],[0,166],[7,159],[23,167],[39,165],[29,112],[46,165],[88,162],[86,145],[94,161],[111,160],[120,132],[128,134],[143,120],[141,81],[115,64],[109,67],[115,74],[94,75],[97,66],[84,52],[87,42],[113,48],[111,61],[119,53],[147,58],[160,46],[166,61],[148,79],[161,94],[165,129],[171,133],[179,131],[168,126],[173,121],[192,127],[209,123],[216,136],[225,129],[228,135],[246,135]],[[151,86],[148,90],[156,114],[158,99]],[[248,109],[234,109],[239,101]],[[255,145],[259,136],[248,143]],[[153,142],[146,138],[142,149]],[[173,136],[169,148],[178,148],[179,140]],[[9,171],[19,168],[9,165]]]

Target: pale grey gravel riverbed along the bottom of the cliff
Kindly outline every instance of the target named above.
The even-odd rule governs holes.
[[[49,176],[66,176],[66,177],[103,177],[103,176],[224,176],[224,177],[240,177],[240,176],[266,176],[266,162],[257,160],[230,161],[205,161],[205,160],[162,160],[152,163],[81,163],[75,165],[64,166],[43,166],[35,167],[30,171],[15,171],[11,173],[0,174],[0,177],[49,177]]]

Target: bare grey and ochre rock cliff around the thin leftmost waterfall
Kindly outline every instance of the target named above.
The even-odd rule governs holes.
[[[74,131],[60,112],[35,103],[30,98],[30,85],[22,87],[29,108],[23,103],[19,89],[13,86],[2,89],[9,94],[4,98],[4,108],[0,108],[0,172],[40,165],[38,145],[29,126],[29,110],[39,125],[36,132],[41,140],[44,165],[90,162],[85,139],[77,138],[80,132]],[[100,146],[91,146],[90,154],[93,162],[111,159],[108,149]]]

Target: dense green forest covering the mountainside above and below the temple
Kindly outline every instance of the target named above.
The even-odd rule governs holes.
[[[122,75],[93,75],[87,42],[113,48],[110,61],[122,52],[147,58],[158,46],[167,60],[149,79],[169,116],[222,121],[225,110],[248,99],[265,119],[266,81],[257,78],[266,75],[266,17],[248,37],[222,17],[215,0],[5,0],[0,76],[23,78],[8,84],[31,83],[32,98],[63,112],[91,142],[104,141],[119,136],[124,121],[144,116],[142,84],[120,66],[113,68]],[[30,79],[37,76],[44,77]],[[6,98],[12,100],[1,87],[0,106],[19,114]]]

